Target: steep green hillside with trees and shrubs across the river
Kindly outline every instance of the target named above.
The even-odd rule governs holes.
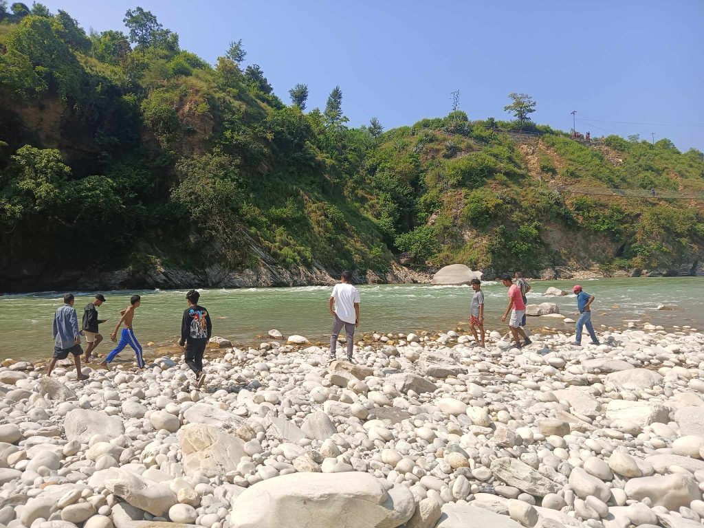
[[[463,112],[347,127],[338,88],[322,111],[303,85],[287,106],[241,42],[210,65],[141,8],[129,34],[86,34],[22,5],[0,13],[2,291],[404,281],[457,262],[704,272],[704,202],[574,193],[700,192],[699,151]]]

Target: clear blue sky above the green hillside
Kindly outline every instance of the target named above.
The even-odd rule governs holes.
[[[243,39],[246,63],[261,65],[286,103],[303,82],[308,108],[323,108],[339,84],[352,126],[372,116],[388,129],[445,115],[455,89],[470,119],[505,119],[507,94],[524,92],[538,102],[538,123],[570,130],[576,110],[590,120],[577,130],[593,136],[655,132],[681,150],[704,150],[700,0],[44,4],[97,31],[123,29],[127,8],[142,6],[211,63]]]

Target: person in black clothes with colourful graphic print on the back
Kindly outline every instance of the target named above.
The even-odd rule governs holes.
[[[200,306],[198,301],[201,298],[196,290],[191,289],[186,294],[188,308],[184,310],[181,322],[181,340],[179,345],[181,353],[185,356],[186,365],[196,375],[196,386],[200,388],[206,382],[206,373],[203,372],[203,353],[210,334],[213,333],[213,323],[210,322],[208,310]]]

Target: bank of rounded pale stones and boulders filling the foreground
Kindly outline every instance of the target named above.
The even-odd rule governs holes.
[[[200,391],[175,357],[5,360],[0,528],[700,526],[704,334],[650,328],[376,334],[358,365],[289,337]]]

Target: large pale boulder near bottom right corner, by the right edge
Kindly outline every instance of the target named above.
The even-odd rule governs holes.
[[[647,497],[652,501],[653,506],[663,506],[674,511],[677,511],[680,506],[689,507],[691,501],[701,498],[696,482],[679,473],[630,479],[624,491],[628,498],[643,501]]]

